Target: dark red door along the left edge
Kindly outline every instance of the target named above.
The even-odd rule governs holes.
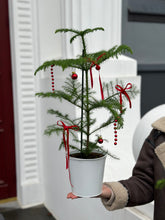
[[[0,1],[0,199],[16,196],[8,1]]]

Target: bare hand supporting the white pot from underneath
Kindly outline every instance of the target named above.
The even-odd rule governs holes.
[[[112,195],[111,189],[106,186],[105,184],[102,185],[102,192],[100,195],[92,197],[92,198],[103,198],[103,199],[109,199]],[[74,195],[72,192],[68,193],[67,199],[78,199],[81,198],[79,196]]]

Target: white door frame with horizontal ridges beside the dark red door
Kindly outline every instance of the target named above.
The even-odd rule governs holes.
[[[38,1],[8,0],[13,78],[17,199],[21,207],[43,203],[40,111],[34,70],[39,65]],[[30,123],[29,123],[30,122]],[[35,193],[35,196],[34,196]]]

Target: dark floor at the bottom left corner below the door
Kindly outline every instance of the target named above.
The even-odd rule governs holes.
[[[0,220],[55,220],[51,213],[43,206],[20,209],[17,203],[0,205]]]

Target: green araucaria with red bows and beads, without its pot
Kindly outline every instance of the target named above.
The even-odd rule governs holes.
[[[131,49],[126,45],[114,46],[107,51],[102,50],[96,53],[87,53],[85,36],[98,30],[103,31],[104,29],[101,27],[97,27],[94,29],[86,29],[84,31],[73,29],[56,30],[55,33],[72,32],[73,37],[70,39],[70,43],[72,43],[78,37],[81,38],[81,55],[79,55],[76,59],[60,59],[47,61],[35,71],[36,75],[36,73],[40,70],[45,70],[49,67],[51,68],[52,73],[53,69],[56,66],[62,67],[63,70],[67,68],[73,68],[74,72],[66,79],[62,90],[54,90],[53,82],[52,92],[40,92],[36,95],[42,98],[51,97],[59,99],[60,101],[66,100],[68,104],[72,104],[80,110],[81,116],[78,118],[71,118],[69,112],[68,114],[63,114],[57,109],[48,110],[48,113],[57,116],[57,118],[59,118],[59,121],[58,123],[55,122],[53,125],[48,126],[45,130],[45,134],[51,135],[54,132],[57,135],[61,134],[62,140],[60,148],[62,146],[66,147],[69,145],[69,148],[76,149],[79,152],[80,157],[82,158],[92,157],[92,153],[95,150],[99,150],[99,152],[101,151],[105,153],[105,151],[101,147],[101,143],[104,139],[100,137],[98,133],[100,129],[103,129],[111,124],[115,124],[115,144],[117,144],[117,130],[123,127],[123,114],[126,110],[124,104],[122,103],[122,98],[126,97],[131,105],[130,98],[134,98],[138,92],[136,86],[130,83],[127,84],[129,88],[123,88],[123,85],[117,85],[116,89],[112,88],[112,82],[104,83],[102,86],[101,78],[99,75],[101,98],[95,98],[95,92],[93,91],[93,88],[91,88],[93,87],[92,69],[95,67],[96,70],[99,71],[100,64],[107,59],[113,57],[118,58],[118,55],[125,52],[132,53]],[[81,70],[81,83],[76,80],[76,69]],[[125,91],[126,89],[128,89],[127,92]],[[96,127],[94,126],[96,123],[96,118],[93,118],[92,114],[94,110],[101,108],[109,111],[109,117],[99,127]],[[72,135],[74,144],[67,143],[65,131],[67,131],[67,138],[69,133],[70,135]],[[78,132],[80,133],[80,135],[77,135]],[[92,136],[96,137],[95,141],[92,141],[94,140]]]

